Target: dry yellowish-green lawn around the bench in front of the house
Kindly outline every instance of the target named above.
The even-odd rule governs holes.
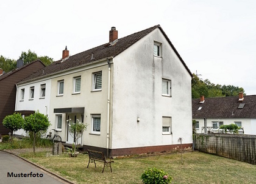
[[[203,152],[185,152],[182,160],[179,153],[150,157],[116,158],[110,168],[103,163],[88,164],[88,155],[79,154],[69,158],[67,154],[49,156],[46,152],[23,154],[21,157],[37,163],[50,171],[71,180],[74,183],[142,183],[140,176],[148,167],[163,169],[171,175],[172,183],[255,183],[256,165],[239,162],[229,158],[205,154]]]

